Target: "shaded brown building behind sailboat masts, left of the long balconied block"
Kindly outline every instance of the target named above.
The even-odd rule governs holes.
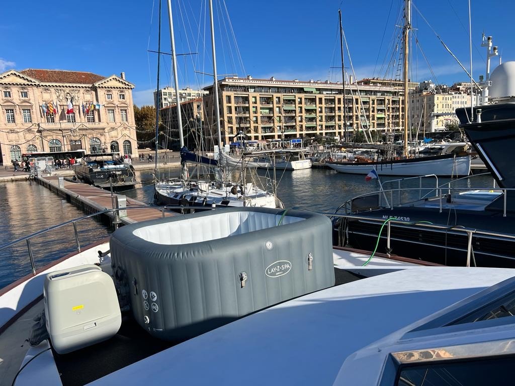
[[[205,146],[204,110],[202,98],[188,100],[181,103],[181,121],[184,145],[190,149],[203,149]],[[179,150],[179,125],[177,119],[177,105],[162,108],[160,111],[161,122],[165,126],[165,132],[160,143],[163,149]]]

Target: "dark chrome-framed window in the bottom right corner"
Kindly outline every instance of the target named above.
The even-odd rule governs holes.
[[[397,386],[511,384],[515,356],[402,366]]]

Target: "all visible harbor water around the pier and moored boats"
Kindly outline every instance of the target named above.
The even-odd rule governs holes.
[[[179,177],[178,168],[166,170],[167,177]],[[235,172],[237,173],[237,172]],[[269,172],[258,170],[255,176],[263,185],[270,187]],[[236,176],[235,176],[236,177]],[[136,188],[124,192],[128,197],[144,203],[153,201],[151,171],[136,171],[139,184]],[[250,180],[247,176],[247,181]],[[294,171],[277,171],[279,182],[277,194],[286,208],[299,208],[315,212],[333,213],[346,200],[380,189],[377,180],[365,181],[365,176],[341,174],[329,169],[304,169]],[[385,189],[396,188],[397,184]],[[449,179],[439,179],[443,184]],[[458,181],[458,187],[472,188],[492,186],[490,177],[473,177]],[[393,185],[393,186],[391,186]],[[403,187],[418,188],[417,179],[403,183]],[[423,186],[434,187],[434,179],[424,179]],[[429,189],[424,191],[428,192]],[[418,190],[401,196],[401,200],[417,199]],[[47,227],[84,216],[73,204],[62,200],[47,188],[35,182],[15,181],[0,183],[0,244],[41,231]],[[112,231],[100,221],[90,218],[78,223],[79,239],[82,246],[106,237]],[[36,267],[43,267],[48,262],[65,256],[76,250],[73,225],[46,233],[31,241]],[[30,260],[26,242],[0,251],[0,288],[30,273]]]

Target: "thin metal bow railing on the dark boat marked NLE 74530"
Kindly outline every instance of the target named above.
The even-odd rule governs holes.
[[[435,189],[432,189],[432,191],[435,192],[435,196],[434,197],[421,197],[421,191],[422,190],[427,190],[427,189],[431,189],[431,188],[427,188],[427,187],[418,187],[418,188],[397,188],[397,189],[381,189],[381,190],[376,190],[376,191],[372,191],[372,192],[368,192],[368,193],[365,193],[363,195],[359,195],[359,196],[356,196],[356,197],[353,197],[351,198],[350,200],[347,200],[345,201],[343,204],[341,204],[334,212],[334,214],[338,214],[338,212],[340,212],[340,210],[344,209],[345,210],[345,214],[353,214],[353,213],[356,213],[357,210],[359,209],[363,209],[363,205],[362,206],[357,206],[355,203],[357,200],[359,199],[364,199],[366,197],[373,197],[373,196],[377,196],[377,204],[372,204],[370,205],[370,201],[368,202],[368,204],[366,205],[370,205],[370,206],[367,206],[366,210],[371,210],[371,209],[379,209],[379,208],[387,208],[387,209],[391,209],[393,210],[393,207],[394,206],[399,206],[399,205],[407,205],[409,203],[413,203],[413,202],[417,202],[417,201],[420,201],[420,200],[438,200],[438,203],[439,203],[439,212],[441,213],[442,210],[443,210],[443,200],[447,200],[448,199],[448,194],[446,193],[446,191],[449,189],[449,187],[447,186],[447,184],[443,185],[443,186],[440,186],[438,188],[435,188]],[[476,188],[476,189],[472,189],[470,187],[466,187],[466,188],[452,188],[452,190],[454,192],[461,192],[461,191],[470,191],[470,190],[480,190],[480,191],[499,191],[499,192],[502,192],[503,193],[503,217],[506,217],[506,207],[507,207],[507,195],[506,195],[506,192],[507,191],[511,191],[511,190],[515,190],[515,188],[491,188],[491,187],[488,187],[488,188]],[[419,199],[414,199],[413,201],[406,201],[406,202],[400,202],[400,198],[401,198],[401,193],[406,193],[406,192],[418,192],[419,193]],[[394,201],[394,197],[397,197],[397,202]],[[388,200],[389,198],[389,200]]]

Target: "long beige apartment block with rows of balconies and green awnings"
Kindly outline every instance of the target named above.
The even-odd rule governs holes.
[[[350,138],[362,128],[379,132],[403,127],[402,82],[372,81],[343,85],[329,81],[245,79],[218,82],[222,141],[239,131],[251,140],[325,136]],[[204,98],[208,139],[216,144],[212,86]],[[345,110],[345,115],[344,115]],[[347,123],[347,126],[345,125]]]

